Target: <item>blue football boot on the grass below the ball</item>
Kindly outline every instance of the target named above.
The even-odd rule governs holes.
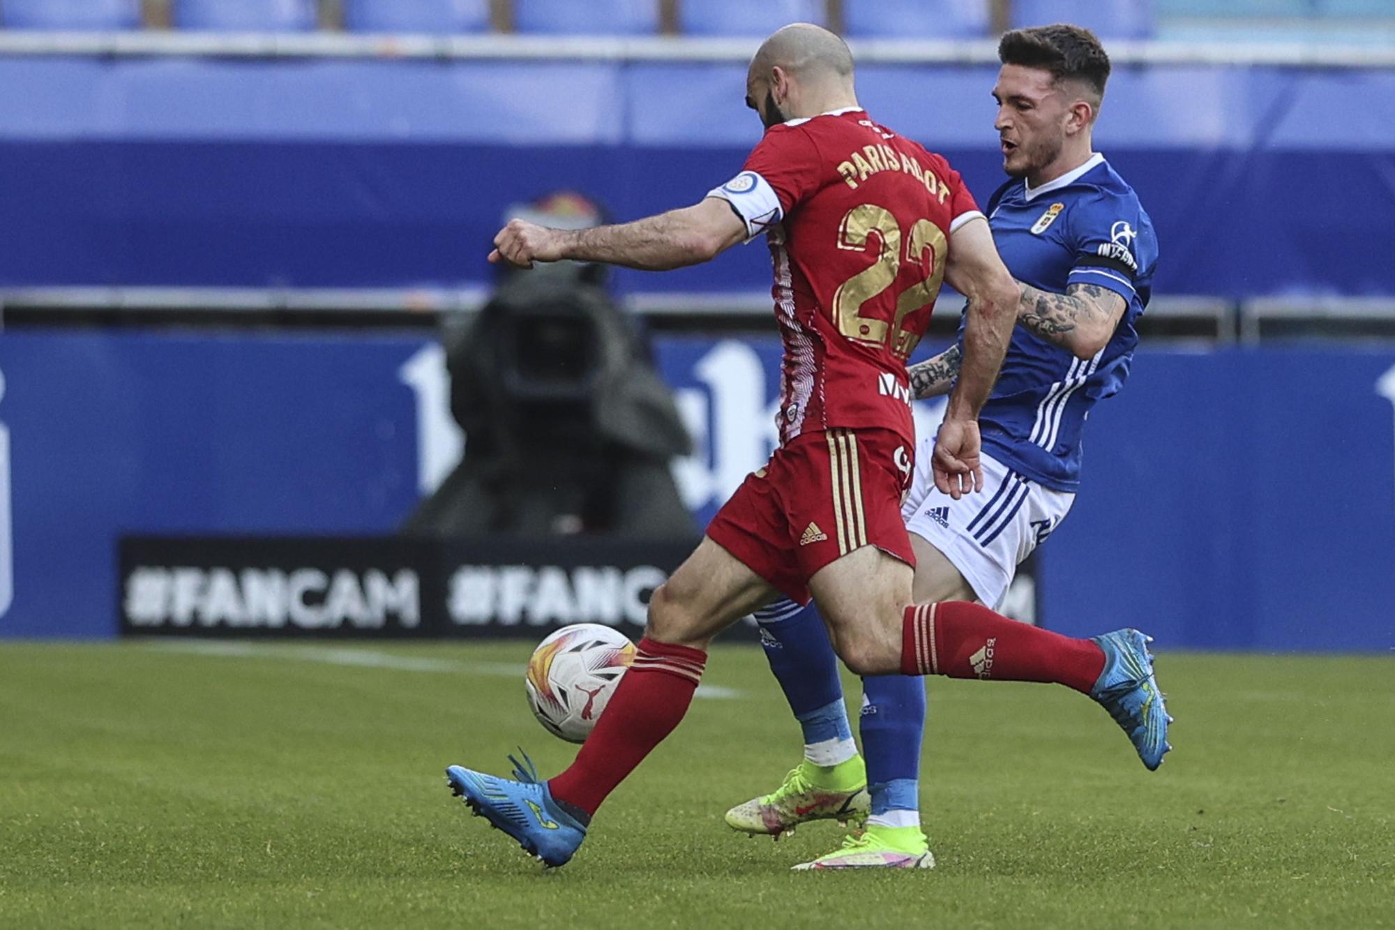
[[[527,753],[523,762],[509,755],[513,778],[497,778],[460,765],[445,769],[451,792],[463,797],[476,817],[484,817],[548,867],[566,864],[586,839],[586,824],[552,800]]]

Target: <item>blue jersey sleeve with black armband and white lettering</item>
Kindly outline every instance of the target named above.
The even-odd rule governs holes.
[[[1152,235],[1138,200],[1131,194],[1096,191],[1070,212],[1069,236],[1074,265],[1066,283],[1092,283],[1113,290],[1126,303],[1147,303],[1140,282],[1141,253],[1149,246],[1140,235]]]

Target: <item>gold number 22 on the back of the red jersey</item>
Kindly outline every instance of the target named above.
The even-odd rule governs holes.
[[[944,281],[944,254],[949,243],[944,230],[929,219],[917,219],[903,235],[901,225],[891,211],[876,204],[862,204],[843,216],[843,223],[838,226],[838,249],[865,251],[872,242],[872,233],[876,233],[880,242],[876,261],[838,285],[833,295],[833,320],[838,325],[838,332],[848,339],[870,345],[886,344],[893,353],[904,359],[911,355],[921,337],[903,330],[901,324],[911,313],[935,303]],[[890,325],[886,320],[862,316],[864,304],[896,283],[903,261],[921,268],[923,276],[897,295],[896,317]]]

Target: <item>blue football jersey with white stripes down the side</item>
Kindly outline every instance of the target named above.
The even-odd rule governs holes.
[[[1119,328],[1094,359],[1018,325],[1003,373],[979,415],[985,451],[1045,487],[1080,486],[1081,433],[1096,401],[1123,387],[1138,345],[1134,324],[1148,304],[1158,239],[1133,189],[1103,155],[1032,190],[1003,184],[988,202],[993,240],[1007,270],[1042,290],[1092,283],[1129,302]],[[960,323],[960,338],[964,325]]]

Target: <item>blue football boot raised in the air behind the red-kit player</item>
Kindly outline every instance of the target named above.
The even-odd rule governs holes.
[[[1152,673],[1152,655],[1145,637],[1137,630],[1115,630],[1094,642],[1105,651],[1105,670],[1091,688],[1089,697],[1109,711],[1115,723],[1138,750],[1138,758],[1148,771],[1162,765],[1162,757],[1172,748],[1168,743],[1168,708]]]

